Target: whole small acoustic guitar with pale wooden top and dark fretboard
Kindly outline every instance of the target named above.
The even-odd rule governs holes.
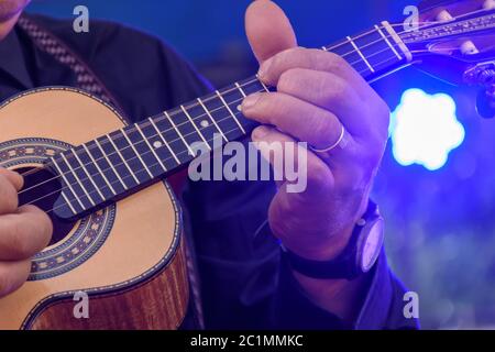
[[[415,64],[455,84],[481,85],[490,110],[495,3],[451,2],[425,9],[428,22],[415,29],[382,22],[322,50],[369,82]],[[249,135],[256,124],[240,103],[271,89],[252,77],[132,125],[74,88],[6,101],[0,165],[24,175],[20,205],[48,213],[54,237],[33,258],[28,283],[0,299],[0,329],[178,328],[189,284],[180,208],[166,179],[191,162],[194,143],[212,147],[215,134],[223,143]],[[89,296],[89,319],[74,315],[78,293]]]

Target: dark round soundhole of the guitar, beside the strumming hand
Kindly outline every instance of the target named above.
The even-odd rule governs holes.
[[[61,242],[70,233],[76,221],[62,221],[53,211],[62,190],[59,177],[42,168],[22,167],[16,172],[24,175],[24,187],[19,194],[19,205],[34,205],[45,211],[52,219],[54,229],[50,244]]]

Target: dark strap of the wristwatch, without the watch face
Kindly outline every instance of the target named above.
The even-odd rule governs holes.
[[[370,200],[363,219],[370,219],[377,213],[377,206]],[[328,262],[311,261],[304,258],[284,245],[282,248],[282,258],[294,271],[301,273],[308,277],[319,279],[354,279],[362,274],[356,263],[358,240],[360,238],[362,227],[358,223],[351,234],[348,245],[342,253],[334,260]]]

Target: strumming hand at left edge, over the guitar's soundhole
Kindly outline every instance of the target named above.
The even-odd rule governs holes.
[[[22,177],[0,168],[0,297],[18,289],[31,271],[31,257],[52,237],[52,221],[33,206],[18,208]]]

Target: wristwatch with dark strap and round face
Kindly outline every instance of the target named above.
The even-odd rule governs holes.
[[[283,244],[282,254],[287,264],[296,272],[312,278],[353,279],[372,270],[382,251],[384,240],[384,220],[378,207],[369,202],[366,212],[356,222],[351,239],[343,252],[328,262],[304,258]]]

